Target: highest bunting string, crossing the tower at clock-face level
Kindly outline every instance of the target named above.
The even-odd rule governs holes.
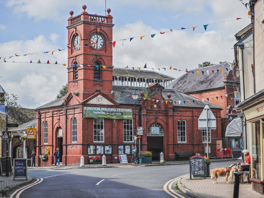
[[[251,15],[249,14],[249,17],[250,17],[250,16],[251,16]],[[235,20],[238,20],[238,19],[246,19],[246,18],[249,18],[249,17],[236,18],[236,19],[227,20],[227,21],[221,21],[221,22],[216,22],[216,23],[224,23],[224,22],[228,22],[228,21],[235,21]],[[184,30],[184,29],[189,29],[189,28],[192,28],[193,31],[194,31],[196,27],[202,27],[202,26],[203,26],[203,28],[204,28],[205,31],[206,31],[208,25],[212,25],[212,24],[216,24],[216,23],[209,23],[209,24],[207,24],[207,25],[198,25],[198,26],[195,26],[195,27],[182,27],[181,29],[177,29],[177,30],[172,30],[172,29],[170,28],[170,31],[167,31],[167,32],[175,32],[175,31]],[[156,34],[164,34],[164,33],[167,33],[167,32],[160,32],[160,33],[155,33],[155,34],[148,34],[148,35],[144,35],[144,36],[151,36],[151,37],[153,38]],[[134,38],[140,38],[140,39],[142,40],[142,38],[143,38],[144,36],[130,37],[130,38],[126,38],[126,39],[119,39],[119,40],[108,41],[108,42],[104,42],[104,43],[112,43],[112,44],[113,44],[113,47],[115,48],[115,42],[116,42],[116,41],[121,41],[121,42],[122,42],[122,45],[124,45],[124,42],[125,42],[127,39],[129,39],[129,40],[131,41],[131,40],[134,39]],[[97,45],[97,44],[98,44],[98,43],[93,42],[93,44],[84,44],[83,46],[81,46],[81,45],[76,45],[76,47],[78,47],[78,48],[82,48],[82,47],[88,47],[88,46],[91,46],[91,45]],[[65,48],[65,49],[71,49],[71,47],[67,46],[67,48]],[[15,53],[15,55],[12,55],[12,56],[5,56],[5,57],[0,57],[0,59],[1,59],[1,58],[4,58],[4,59],[8,58],[8,59],[9,59],[9,58],[11,58],[11,57],[27,56],[27,55],[32,55],[32,54],[38,54],[38,53],[49,53],[49,52],[51,52],[52,55],[53,55],[54,52],[56,52],[56,51],[62,51],[62,50],[65,50],[65,49],[56,49],[56,50],[51,50],[51,51],[36,52],[36,53],[27,53],[27,54],[20,54],[20,55],[17,55],[17,54]],[[4,61],[5,61],[5,60],[4,60]]]

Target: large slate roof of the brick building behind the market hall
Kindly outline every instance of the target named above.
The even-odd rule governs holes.
[[[229,67],[231,67],[231,63],[228,62],[190,70],[189,73],[174,80],[172,88],[186,94],[223,88],[224,76],[230,70]],[[225,68],[228,68],[228,71]],[[223,73],[221,69],[224,69]],[[209,75],[207,75],[207,70]],[[212,70],[214,70],[214,74],[212,74]],[[219,70],[218,74],[217,70]],[[194,71],[194,74],[191,71]],[[196,71],[199,71],[199,76]]]

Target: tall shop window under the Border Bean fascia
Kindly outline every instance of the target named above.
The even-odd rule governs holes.
[[[257,171],[257,179],[261,179],[261,139],[260,139],[260,121],[251,123],[252,131],[252,168]]]

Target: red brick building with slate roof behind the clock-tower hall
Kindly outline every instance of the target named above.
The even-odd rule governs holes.
[[[241,100],[239,92],[237,92],[237,95],[234,94],[234,91],[240,90],[240,78],[239,73],[237,76],[239,68],[233,65],[234,63],[231,64],[227,62],[190,70],[189,73],[182,75],[172,83],[172,88],[177,89],[177,91],[206,101],[208,101],[208,98],[210,103],[223,108],[221,111],[222,138],[225,138],[225,131],[228,123],[232,118],[237,117],[236,105]],[[223,72],[221,69],[223,69]],[[194,74],[192,74],[191,71],[194,71]],[[199,76],[196,71],[199,71]],[[209,75],[207,75],[207,71]],[[230,93],[232,93],[232,95],[230,95]],[[227,95],[227,97],[225,95]],[[220,96],[222,96],[222,98]],[[234,97],[236,97],[236,100],[234,100]],[[231,100],[231,98],[233,99]],[[230,117],[232,118],[230,119]],[[236,141],[241,141],[241,139]],[[240,143],[236,144],[239,148],[234,148],[232,141],[228,141],[227,139],[223,139],[222,141],[223,148],[231,148],[233,155],[238,157],[241,155]]]

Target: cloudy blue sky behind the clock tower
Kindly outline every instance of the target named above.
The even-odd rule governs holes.
[[[0,57],[65,48],[69,11],[79,15],[82,5],[89,14],[105,15],[105,0],[0,0]],[[113,18],[113,40],[194,27],[248,17],[238,0],[107,0]],[[250,23],[250,18],[216,23],[142,40],[117,42],[113,48],[115,67],[170,67],[195,69],[203,61],[233,62],[234,34]],[[67,63],[67,51],[12,57],[7,61]],[[184,73],[161,71],[178,78]],[[54,100],[67,82],[66,66],[3,63],[0,60],[0,84],[8,93],[19,97],[26,108],[36,108]]]

